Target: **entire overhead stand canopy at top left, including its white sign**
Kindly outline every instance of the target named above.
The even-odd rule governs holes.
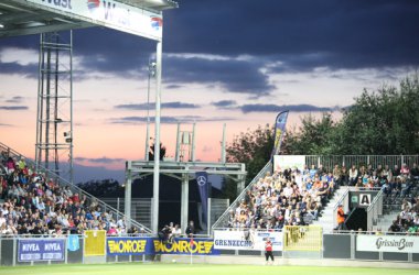
[[[162,38],[162,11],[171,0],[1,0],[0,37],[106,26]]]

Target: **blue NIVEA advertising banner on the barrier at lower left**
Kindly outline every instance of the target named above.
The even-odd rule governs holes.
[[[19,239],[18,261],[64,261],[64,239]]]

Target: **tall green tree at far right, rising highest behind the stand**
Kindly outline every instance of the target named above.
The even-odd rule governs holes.
[[[418,154],[419,78],[406,77],[398,88],[364,92],[344,112],[335,135],[335,154]]]

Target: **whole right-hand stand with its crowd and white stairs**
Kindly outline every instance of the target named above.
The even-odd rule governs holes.
[[[272,165],[268,163],[217,220],[213,230],[281,230],[286,226],[314,223],[322,226],[324,232],[331,232],[336,228],[334,207],[345,190],[362,189],[379,193],[387,215],[389,209],[399,208],[399,202],[404,201],[395,221],[398,227],[388,231],[418,232],[417,164],[411,168],[395,164],[393,169],[378,164],[376,167],[353,164],[350,168],[311,164],[310,168],[305,165],[302,170],[287,168],[273,174],[271,170]],[[373,218],[377,220],[377,217]],[[387,231],[388,228],[374,226],[368,230]]]

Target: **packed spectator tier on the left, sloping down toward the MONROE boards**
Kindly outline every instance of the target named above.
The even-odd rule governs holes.
[[[127,226],[130,226],[127,228]],[[0,143],[0,235],[150,233],[135,220]]]

